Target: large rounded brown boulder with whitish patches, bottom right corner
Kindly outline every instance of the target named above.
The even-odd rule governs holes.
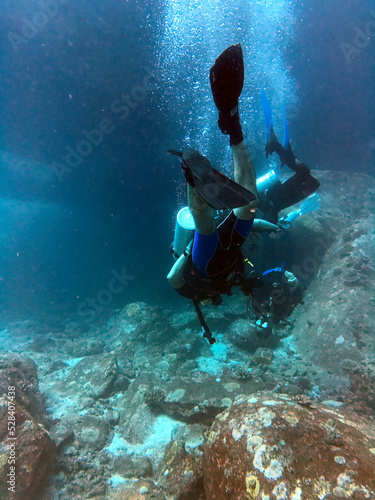
[[[203,452],[207,500],[375,498],[372,422],[258,393],[218,415]]]

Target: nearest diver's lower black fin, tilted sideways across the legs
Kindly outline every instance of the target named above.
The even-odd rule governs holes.
[[[215,210],[243,207],[255,200],[253,193],[214,169],[195,149],[184,151],[182,162],[184,169],[190,169],[200,196]]]

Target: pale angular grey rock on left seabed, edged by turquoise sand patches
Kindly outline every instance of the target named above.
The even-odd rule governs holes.
[[[86,356],[70,370],[66,379],[54,385],[54,389],[66,397],[81,395],[96,400],[107,398],[113,392],[116,378],[116,356]]]

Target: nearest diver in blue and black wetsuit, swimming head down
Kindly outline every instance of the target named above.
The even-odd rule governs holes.
[[[168,274],[177,292],[193,300],[201,323],[201,300],[211,299],[214,304],[220,304],[221,295],[230,295],[236,285],[245,293],[251,291],[252,278],[246,280],[244,277],[241,246],[251,231],[258,206],[255,171],[243,140],[238,113],[238,98],[244,81],[240,45],[232,45],[219,56],[211,68],[210,80],[219,109],[219,127],[230,139],[235,182],[213,169],[207,158],[197,151],[187,150],[180,154],[195,236]],[[212,208],[232,211],[216,227]],[[213,343],[207,325],[204,323],[202,327],[204,335]]]

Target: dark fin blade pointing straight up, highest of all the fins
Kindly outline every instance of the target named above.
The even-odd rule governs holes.
[[[221,113],[231,116],[237,113],[244,75],[241,44],[231,45],[220,54],[210,69],[212,95]]]

